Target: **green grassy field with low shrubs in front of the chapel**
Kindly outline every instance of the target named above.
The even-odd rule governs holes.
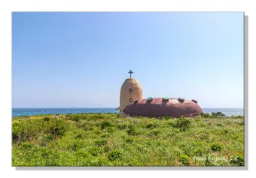
[[[20,116],[12,121],[12,165],[243,166],[244,119]]]

